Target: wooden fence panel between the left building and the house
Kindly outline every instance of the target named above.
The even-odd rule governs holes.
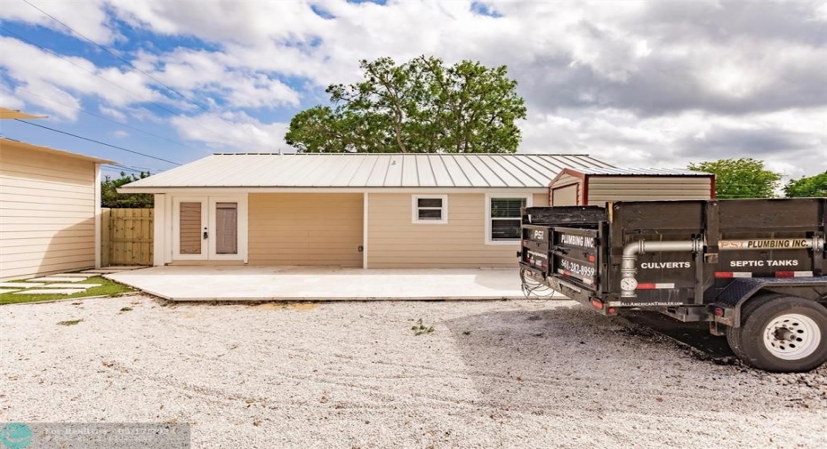
[[[102,209],[100,262],[111,265],[152,265],[152,209]]]

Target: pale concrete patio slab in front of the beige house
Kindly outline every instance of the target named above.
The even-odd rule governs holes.
[[[104,275],[173,301],[522,299],[518,269],[153,267]]]

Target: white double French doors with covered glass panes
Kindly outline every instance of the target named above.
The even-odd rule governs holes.
[[[246,197],[173,200],[173,260],[246,261]]]

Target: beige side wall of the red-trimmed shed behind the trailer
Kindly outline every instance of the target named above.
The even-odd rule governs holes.
[[[591,176],[589,204],[606,201],[710,199],[711,180],[702,176]]]

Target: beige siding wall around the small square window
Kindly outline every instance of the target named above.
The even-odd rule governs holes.
[[[448,194],[445,224],[414,224],[411,194],[372,193],[368,204],[368,268],[517,267],[518,243],[486,245],[485,194]]]

